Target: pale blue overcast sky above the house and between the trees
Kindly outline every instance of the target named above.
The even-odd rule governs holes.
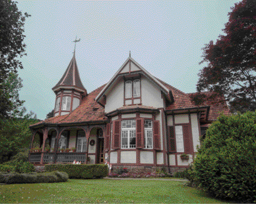
[[[38,119],[54,109],[52,88],[74,52],[88,93],[107,83],[131,57],[153,76],[182,92],[196,92],[206,66],[202,48],[216,42],[239,0],[24,1],[27,56],[19,69],[20,99]]]

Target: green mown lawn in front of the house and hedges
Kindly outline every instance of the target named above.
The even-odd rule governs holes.
[[[0,185],[0,203],[229,203],[183,182],[161,180],[78,180]],[[234,203],[234,202],[231,202]]]

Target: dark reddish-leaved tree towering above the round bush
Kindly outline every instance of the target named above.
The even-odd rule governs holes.
[[[192,96],[193,101],[210,101],[225,96],[233,111],[256,110],[256,5],[254,0],[235,3],[229,21],[216,43],[203,48],[208,66],[199,72],[197,91],[211,97]],[[200,64],[199,63],[199,64]]]

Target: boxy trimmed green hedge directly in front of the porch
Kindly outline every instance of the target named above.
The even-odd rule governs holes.
[[[64,171],[69,178],[103,178],[107,176],[106,164],[46,164],[45,171]]]

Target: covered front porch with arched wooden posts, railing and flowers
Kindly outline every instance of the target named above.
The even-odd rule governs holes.
[[[105,125],[38,128],[31,138],[29,162],[104,164],[105,134]]]

